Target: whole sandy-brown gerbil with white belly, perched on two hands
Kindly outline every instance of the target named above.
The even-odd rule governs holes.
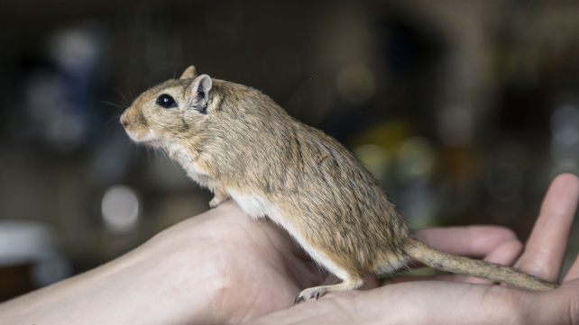
[[[121,123],[131,139],[166,150],[211,190],[211,207],[231,198],[253,218],[269,217],[342,280],[308,288],[295,302],[359,288],[365,275],[391,273],[411,259],[522,289],[558,286],[418,241],[350,151],[252,87],[198,76],[191,66],[140,95]]]

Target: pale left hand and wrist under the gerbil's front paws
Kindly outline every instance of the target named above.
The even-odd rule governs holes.
[[[327,276],[285,231],[225,202],[104,266],[0,303],[7,324],[239,323]]]

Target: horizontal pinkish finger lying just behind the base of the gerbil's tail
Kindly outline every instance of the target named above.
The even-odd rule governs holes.
[[[415,236],[433,248],[469,257],[485,257],[503,242],[517,240],[512,230],[498,226],[430,228]]]

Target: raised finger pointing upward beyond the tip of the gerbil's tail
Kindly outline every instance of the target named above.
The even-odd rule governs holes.
[[[537,222],[516,266],[523,272],[557,281],[579,198],[579,178],[556,176],[547,190]]]

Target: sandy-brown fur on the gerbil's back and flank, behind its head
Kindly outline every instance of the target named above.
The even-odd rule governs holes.
[[[313,247],[354,274],[402,258],[408,227],[348,150],[253,88],[215,87],[215,123],[198,150],[222,185],[267,197]]]

